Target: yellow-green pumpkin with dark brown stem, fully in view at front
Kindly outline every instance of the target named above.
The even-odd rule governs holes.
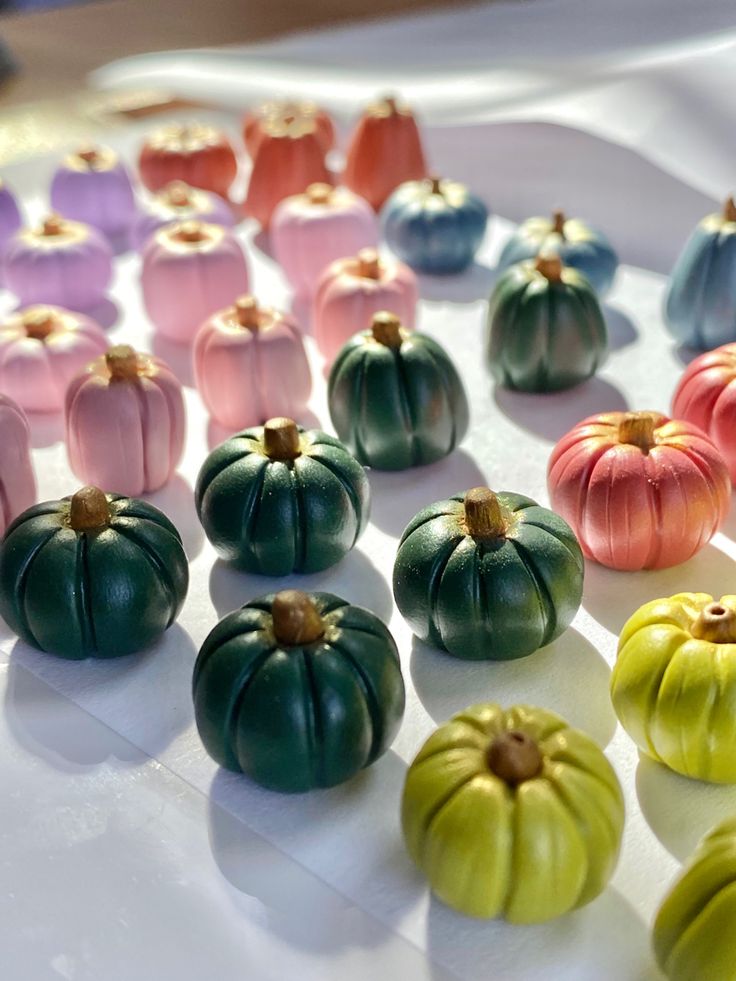
[[[616,866],[621,787],[597,744],[546,709],[473,705],[409,767],[404,841],[432,891],[476,917],[542,923],[585,906]]]

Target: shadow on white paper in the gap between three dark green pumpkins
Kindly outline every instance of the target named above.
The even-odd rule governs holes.
[[[409,470],[368,470],[371,484],[371,521],[395,538],[428,504],[485,484],[486,477],[463,449],[437,463]]]

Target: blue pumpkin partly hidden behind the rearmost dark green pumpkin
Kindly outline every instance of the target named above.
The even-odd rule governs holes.
[[[611,288],[618,256],[606,236],[579,218],[555,211],[551,218],[527,218],[501,252],[498,269],[534,259],[540,253],[556,253],[565,266],[577,269],[602,296]]]

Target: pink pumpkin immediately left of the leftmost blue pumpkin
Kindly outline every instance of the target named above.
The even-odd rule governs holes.
[[[373,209],[346,187],[310,184],[304,194],[285,198],[271,222],[274,257],[304,295],[314,293],[331,262],[377,244]]]

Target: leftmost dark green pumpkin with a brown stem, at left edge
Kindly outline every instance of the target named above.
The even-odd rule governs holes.
[[[28,508],[0,545],[0,614],[22,640],[71,660],[148,647],[188,585],[166,515],[96,487]]]

